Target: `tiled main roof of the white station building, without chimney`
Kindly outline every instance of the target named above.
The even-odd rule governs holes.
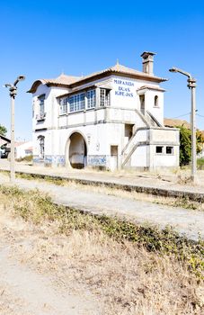
[[[117,63],[113,67],[108,67],[102,71],[94,72],[91,75],[88,76],[67,76],[67,75],[60,75],[57,78],[54,79],[40,79],[35,81],[31,85],[31,89],[28,91],[28,93],[35,93],[38,86],[40,84],[48,85],[48,86],[64,86],[64,87],[75,87],[77,85],[83,85],[84,83],[93,81],[97,78],[101,78],[107,75],[118,75],[118,76],[128,76],[128,77],[134,77],[137,79],[145,79],[147,81],[152,82],[164,82],[167,79],[159,77],[159,76],[153,76],[149,75],[145,72],[137,71],[135,69],[132,69],[130,67],[125,67]]]

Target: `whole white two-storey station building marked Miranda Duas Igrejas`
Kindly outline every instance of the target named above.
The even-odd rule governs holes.
[[[179,130],[164,127],[165,79],[116,64],[90,76],[31,86],[33,162],[46,166],[155,170],[179,166]]]

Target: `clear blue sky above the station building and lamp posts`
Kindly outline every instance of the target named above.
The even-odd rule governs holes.
[[[15,102],[15,138],[31,139],[31,94],[38,78],[62,71],[81,76],[120,64],[142,69],[140,54],[155,51],[155,75],[163,84],[164,116],[189,121],[186,77],[198,80],[197,126],[204,130],[204,3],[202,1],[18,0],[0,3],[0,123],[10,131],[10,100],[4,83],[23,74]],[[203,117],[200,117],[200,116]],[[9,136],[9,132],[8,132]]]

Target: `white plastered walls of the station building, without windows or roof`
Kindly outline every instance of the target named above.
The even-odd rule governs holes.
[[[139,94],[146,95],[146,110],[151,112],[157,121],[163,124],[164,115],[164,94],[157,91],[158,84],[149,83],[145,80],[129,79],[127,77],[109,76],[105,79],[93,81],[89,84],[81,85],[84,88],[91,85],[111,89],[111,106],[107,108],[95,108],[59,115],[59,103],[57,96],[66,94],[67,88],[48,87],[40,85],[35,94],[33,94],[33,155],[38,156],[40,153],[38,136],[45,137],[45,156],[58,157],[65,163],[67,141],[74,132],[80,132],[87,145],[87,154],[92,161],[109,163],[111,156],[111,146],[118,146],[119,158],[121,158],[122,149],[127,143],[125,139],[125,123],[133,124],[133,132],[137,128],[145,128],[146,123],[142,120],[137,111],[140,110]],[[149,89],[142,86],[148,86]],[[152,87],[155,86],[155,89]],[[139,90],[139,91],[138,91]],[[77,93],[77,92],[76,92]],[[45,112],[44,121],[36,121],[36,114],[39,112],[39,95],[45,94]],[[155,95],[158,95],[158,106],[155,107]],[[99,103],[97,104],[99,105]],[[97,107],[97,106],[96,106]],[[178,139],[175,131],[165,132],[164,130],[154,130],[151,133],[150,142],[152,145],[139,145],[129,160],[131,166],[163,166],[176,165],[178,151],[175,149],[175,157],[157,157],[155,156],[156,141],[158,143],[175,143]],[[147,141],[147,129],[139,130],[136,134],[133,144]],[[174,138],[173,138],[174,137]],[[177,138],[176,138],[177,137]],[[58,165],[58,158],[56,165]],[[149,162],[151,160],[151,163]],[[100,163],[101,163],[100,162]]]

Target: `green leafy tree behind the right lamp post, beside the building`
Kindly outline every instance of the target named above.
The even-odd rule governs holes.
[[[178,126],[180,129],[180,166],[188,165],[191,162],[191,130],[183,125]],[[196,131],[196,148],[197,153],[202,149],[203,136],[200,130]]]

